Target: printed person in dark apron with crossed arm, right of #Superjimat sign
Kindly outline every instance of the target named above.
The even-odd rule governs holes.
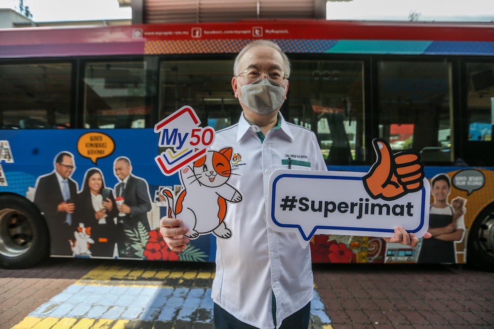
[[[431,192],[434,203],[429,211],[429,232],[432,239],[423,240],[418,263],[455,263],[455,243],[463,239],[465,232],[466,199],[456,197],[451,204],[451,179],[446,174],[432,178]]]

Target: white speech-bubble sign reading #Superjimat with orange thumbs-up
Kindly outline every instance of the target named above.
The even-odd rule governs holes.
[[[429,228],[430,186],[413,151],[393,154],[382,139],[368,173],[276,170],[270,177],[268,219],[307,247],[316,234],[392,237],[396,226],[422,237]]]

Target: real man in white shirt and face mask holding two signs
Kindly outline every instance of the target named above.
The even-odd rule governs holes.
[[[302,249],[294,233],[267,227],[265,205],[271,173],[288,168],[286,154],[307,159],[292,169],[327,170],[316,135],[285,121],[279,112],[287,98],[290,64],[278,45],[257,40],[234,64],[232,88],[239,99],[239,122],[216,133],[212,149],[233,146],[242,162],[230,183],[244,195],[225,219],[232,238],[217,239],[212,287],[215,329],[308,328],[313,275],[310,248]],[[160,221],[172,251],[186,248],[188,229],[180,219]],[[398,230],[392,242],[416,245],[418,239]]]

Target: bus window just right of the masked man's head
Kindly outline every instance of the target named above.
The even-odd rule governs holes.
[[[363,63],[294,60],[292,67],[282,108],[288,120],[317,134],[329,165],[364,161]]]

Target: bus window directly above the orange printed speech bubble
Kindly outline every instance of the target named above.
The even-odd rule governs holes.
[[[144,61],[89,62],[84,70],[84,128],[145,128]]]

